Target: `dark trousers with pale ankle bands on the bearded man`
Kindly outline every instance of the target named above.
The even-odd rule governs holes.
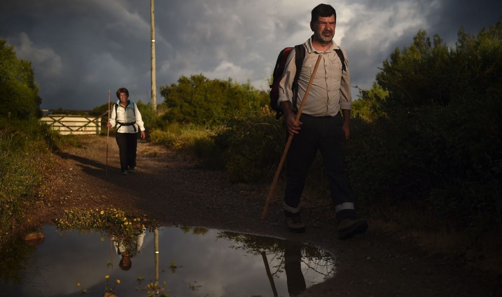
[[[336,219],[356,218],[348,177],[343,166],[343,144],[345,135],[342,131],[343,118],[340,113],[334,117],[313,117],[302,114],[301,130],[293,136],[286,157],[286,193],[285,208],[299,208],[300,197],[305,186],[305,179],[317,150],[320,150],[328,176],[331,198]],[[349,207],[340,207],[347,206]],[[288,210],[288,209],[286,209]],[[294,212],[294,211],[293,211]]]

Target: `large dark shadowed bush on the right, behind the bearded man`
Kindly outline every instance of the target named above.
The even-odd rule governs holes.
[[[453,50],[420,31],[384,62],[377,81],[389,95],[373,122],[353,121],[347,149],[357,196],[502,232],[501,36],[502,23],[460,31]]]

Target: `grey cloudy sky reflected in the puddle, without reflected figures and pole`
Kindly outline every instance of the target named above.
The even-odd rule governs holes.
[[[117,295],[141,295],[142,292],[136,292],[135,287],[143,288],[153,280],[153,233],[146,233],[141,253],[132,258],[132,268],[123,271],[118,268],[120,257],[113,246],[113,268],[106,266],[106,262],[110,261],[110,242],[107,236],[104,241],[100,240],[100,234],[78,234],[78,231],[66,232],[65,236],[60,236],[54,229],[53,226],[45,228],[46,240],[37,246],[36,252],[39,265],[45,265],[44,268],[48,269],[42,272],[48,287],[23,284],[11,287],[12,292],[22,291],[25,295],[30,295],[41,290],[41,296],[77,296],[80,288],[76,283],[80,282],[81,288],[91,290],[92,295],[102,294],[106,286],[104,276],[108,274],[111,285],[115,279],[121,280],[114,290]],[[196,233],[199,234],[194,234],[193,229],[186,231],[180,228],[161,228],[159,231],[159,280],[161,283],[166,281],[170,295],[271,295],[271,284],[261,250],[267,252],[270,269],[273,274],[275,272],[273,279],[279,295],[289,295],[284,267],[286,241],[217,230],[198,230]],[[309,255],[309,250],[314,252]],[[331,275],[334,273],[332,258],[328,259],[328,266],[323,266],[326,264],[322,259],[323,252],[315,251],[314,248],[302,246],[301,271],[307,287],[325,277],[315,270],[331,272]],[[308,258],[305,257],[305,252]],[[178,266],[175,273],[169,268],[173,260]],[[140,275],[145,281],[138,285],[137,278]]]

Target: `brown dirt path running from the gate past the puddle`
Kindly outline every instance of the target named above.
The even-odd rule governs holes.
[[[307,232],[294,234],[283,224],[280,191],[265,220],[260,219],[266,188],[230,184],[222,173],[197,168],[162,147],[140,142],[137,172],[119,174],[114,138],[81,138],[83,147],[54,155],[48,176],[50,206],[35,221],[47,223],[64,209],[118,207],[157,219],[161,225],[186,225],[286,238],[330,251],[338,262],[331,279],[302,296],[490,296],[502,295],[496,277],[477,273],[443,256],[428,255],[398,234],[368,229],[350,240],[337,239],[332,211],[304,211]]]

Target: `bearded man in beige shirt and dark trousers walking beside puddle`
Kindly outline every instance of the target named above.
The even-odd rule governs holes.
[[[320,4],[312,10],[310,28],[314,34],[303,44],[305,59],[302,68],[296,69],[296,54],[291,51],[279,84],[278,105],[284,111],[288,132],[294,135],[286,157],[284,213],[286,225],[292,231],[305,232],[305,225],[300,220],[300,197],[309,167],[320,150],[335,207],[338,236],[350,238],[365,232],[368,225],[366,220],[357,219],[343,167],[342,150],[350,136],[352,101],[347,55],[333,41],[335,27],[336,11],[333,7]],[[344,61],[335,51],[339,49]],[[321,65],[305,99],[300,121],[295,123],[295,113],[302,103],[318,55],[322,55]],[[298,82],[293,86],[297,71],[300,72]]]

